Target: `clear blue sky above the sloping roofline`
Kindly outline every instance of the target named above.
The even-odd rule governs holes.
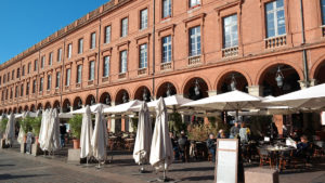
[[[0,0],[0,64],[109,0]]]

